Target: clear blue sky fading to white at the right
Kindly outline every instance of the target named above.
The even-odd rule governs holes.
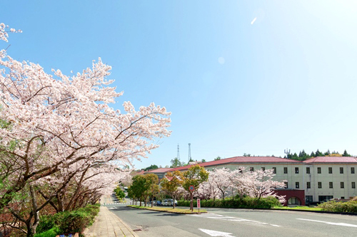
[[[155,102],[169,138],[136,168],[243,153],[357,155],[357,1],[1,1],[17,60],[81,71],[99,57]]]

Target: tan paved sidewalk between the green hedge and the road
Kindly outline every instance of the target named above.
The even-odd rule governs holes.
[[[101,206],[93,226],[84,231],[86,237],[139,237],[121,218]]]

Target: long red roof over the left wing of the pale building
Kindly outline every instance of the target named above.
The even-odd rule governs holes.
[[[284,159],[280,157],[231,157],[231,158],[226,158],[226,159],[218,159],[218,160],[213,160],[212,162],[204,162],[204,163],[199,163],[198,165],[200,167],[209,167],[212,165],[218,165],[218,164],[234,164],[234,163],[301,163],[301,161],[295,160],[295,159]],[[196,165],[196,164],[192,164]],[[186,167],[177,167],[174,169],[171,169],[170,171],[174,170],[184,170],[190,168],[192,165],[187,165]]]

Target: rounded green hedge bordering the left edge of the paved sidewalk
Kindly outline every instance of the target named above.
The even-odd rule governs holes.
[[[75,211],[63,211],[54,215],[41,216],[36,233],[54,230],[56,234],[81,232],[94,223],[99,213],[99,204],[88,205]],[[49,235],[50,236],[50,235]],[[36,235],[40,237],[40,235]]]

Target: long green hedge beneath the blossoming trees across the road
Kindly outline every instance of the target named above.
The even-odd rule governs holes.
[[[190,201],[180,200],[178,206],[190,206]],[[197,200],[193,200],[193,206],[197,206]],[[238,209],[271,209],[273,206],[282,206],[281,203],[273,196],[267,198],[252,198],[249,196],[238,199],[208,199],[201,200],[201,207],[228,207]]]

